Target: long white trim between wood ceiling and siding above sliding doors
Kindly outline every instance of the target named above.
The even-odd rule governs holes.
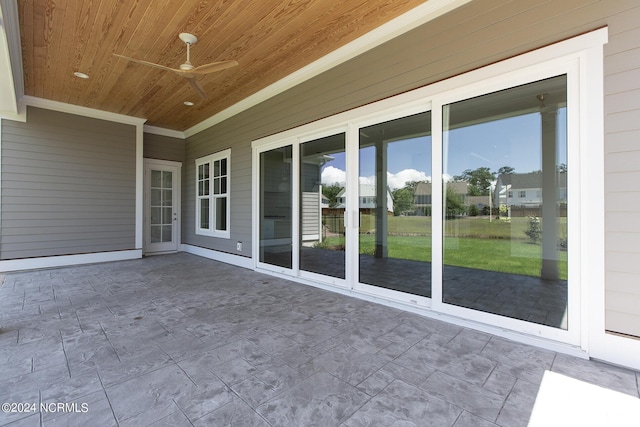
[[[184,131],[186,137],[193,136],[203,130],[210,128],[236,114],[241,113],[269,98],[291,89],[349,59],[373,49],[401,34],[407,33],[422,24],[432,21],[445,13],[457,9],[471,0],[429,0],[413,8],[412,10],[398,16],[384,25],[368,32],[356,40],[334,50],[317,61],[289,74],[287,77],[278,80],[259,92],[243,99],[231,107],[211,116],[210,118],[194,125]]]

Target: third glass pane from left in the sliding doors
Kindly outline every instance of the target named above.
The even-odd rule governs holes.
[[[360,282],[431,296],[431,113],[360,129]]]

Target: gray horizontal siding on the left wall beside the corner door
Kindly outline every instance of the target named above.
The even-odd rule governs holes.
[[[29,107],[2,122],[3,260],[135,248],[135,127]]]

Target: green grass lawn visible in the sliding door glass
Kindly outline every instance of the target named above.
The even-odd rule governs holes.
[[[361,218],[360,229],[371,234],[360,234],[360,253],[373,254],[375,234],[372,232],[375,227],[364,228],[363,223],[370,225],[366,221],[371,221],[371,218]],[[540,244],[530,243],[524,234],[527,221],[527,218],[514,218],[511,222],[490,222],[483,217],[446,221],[444,263],[480,270],[539,276],[542,249]],[[388,226],[387,244],[390,258],[431,260],[431,218],[389,217]],[[338,244],[338,239],[340,238],[326,239],[325,244]],[[558,256],[560,276],[566,279],[567,252],[558,251]]]

